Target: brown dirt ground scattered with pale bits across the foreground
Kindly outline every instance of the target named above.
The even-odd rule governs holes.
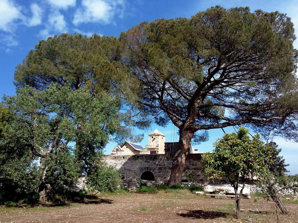
[[[0,208],[0,222],[276,222],[273,204],[261,197],[241,200],[242,221],[235,219],[235,200],[199,197],[186,190],[158,194],[102,194],[87,203],[34,208]],[[255,200],[256,199],[256,200]],[[298,204],[287,203],[281,222],[298,222]]]

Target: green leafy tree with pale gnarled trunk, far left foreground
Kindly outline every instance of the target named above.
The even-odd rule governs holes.
[[[47,199],[48,184],[53,189],[73,187],[80,175],[86,175],[90,160],[102,152],[119,125],[117,102],[105,92],[92,96],[86,88],[52,84],[37,91],[25,86],[3,101],[11,116],[5,128],[10,137],[1,141],[3,154],[14,160],[27,157],[28,165],[39,159],[35,190],[41,201]],[[2,161],[10,165],[11,159]]]

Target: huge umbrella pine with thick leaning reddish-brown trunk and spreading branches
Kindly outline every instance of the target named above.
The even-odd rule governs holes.
[[[191,140],[208,139],[209,129],[249,125],[298,139],[296,37],[285,14],[216,6],[143,22],[120,38],[142,110],[179,129],[169,186],[181,183]]]

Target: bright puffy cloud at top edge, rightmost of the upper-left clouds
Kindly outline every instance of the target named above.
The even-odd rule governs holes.
[[[75,25],[88,22],[111,23],[116,13],[119,16],[123,14],[124,6],[122,0],[82,0],[82,7],[77,9],[72,22]]]

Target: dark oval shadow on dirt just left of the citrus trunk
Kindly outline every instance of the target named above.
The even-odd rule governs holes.
[[[218,211],[188,210],[187,213],[177,213],[177,215],[191,219],[215,219],[226,217],[227,213]]]

